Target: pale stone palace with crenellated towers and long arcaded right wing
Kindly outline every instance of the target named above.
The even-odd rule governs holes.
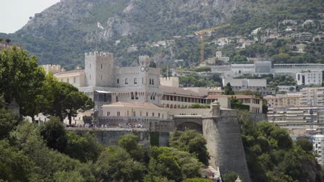
[[[84,70],[58,72],[57,65],[43,67],[47,71],[55,70],[54,76],[58,81],[71,83],[93,99],[99,116],[105,116],[109,111],[104,112],[103,108],[109,108],[105,105],[112,103],[152,103],[161,108],[189,108],[194,103],[209,105],[215,99],[208,99],[208,95],[222,92],[220,88],[179,88],[178,78],[160,78],[160,69],[150,67],[148,56],[140,56],[136,66],[118,67],[112,54],[89,52],[85,53]],[[228,102],[224,103],[221,102],[222,108],[228,108]]]

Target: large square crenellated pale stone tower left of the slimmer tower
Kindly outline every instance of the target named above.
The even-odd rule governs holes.
[[[110,87],[114,82],[114,56],[109,52],[85,53],[87,86]]]

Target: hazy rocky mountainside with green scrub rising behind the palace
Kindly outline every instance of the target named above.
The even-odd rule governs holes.
[[[113,52],[121,65],[132,64],[139,54],[163,62],[181,58],[179,54],[186,57],[188,52],[192,54],[189,62],[197,63],[196,39],[179,40],[172,48],[147,46],[147,42],[228,22],[233,26],[219,34],[249,34],[259,26],[276,27],[283,19],[316,18],[318,12],[324,12],[321,0],[62,0],[30,17],[21,30],[0,37],[23,45],[39,57],[41,64],[61,64],[67,69],[83,65],[84,52],[94,50],[96,45],[98,50]],[[105,30],[97,28],[97,22]],[[127,52],[133,44],[137,50]]]

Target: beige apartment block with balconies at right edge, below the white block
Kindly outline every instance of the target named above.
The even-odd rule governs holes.
[[[303,88],[299,92],[301,94],[301,105],[324,105],[324,87]]]

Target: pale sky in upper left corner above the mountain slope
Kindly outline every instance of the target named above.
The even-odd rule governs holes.
[[[14,33],[22,28],[35,13],[60,0],[0,0],[0,32]]]

